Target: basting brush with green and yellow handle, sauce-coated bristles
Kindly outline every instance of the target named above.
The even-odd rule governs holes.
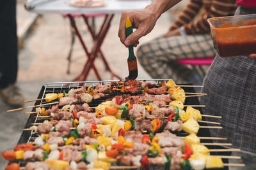
[[[132,24],[131,24],[131,21],[129,19],[129,17],[127,17],[126,19],[126,24],[125,24],[125,36],[126,38],[132,34]],[[125,81],[128,81],[128,80],[134,80],[137,78],[138,76],[138,66],[137,66],[137,59],[136,59],[136,56],[134,55],[134,52],[133,52],[133,45],[130,45],[129,47],[129,57],[127,59],[128,61],[128,69],[129,69],[129,76],[126,77]]]

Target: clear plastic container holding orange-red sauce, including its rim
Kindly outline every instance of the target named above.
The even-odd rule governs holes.
[[[207,21],[220,57],[256,53],[256,14],[214,17]]]

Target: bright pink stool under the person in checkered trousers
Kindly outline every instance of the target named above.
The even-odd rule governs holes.
[[[211,66],[213,60],[214,60],[214,57],[207,58],[207,59],[180,59],[180,60],[177,60],[177,62],[180,64],[191,65],[193,67],[193,70],[196,73],[198,73],[203,80],[206,73],[205,73],[204,69],[202,68],[202,66]],[[196,67],[198,67],[200,69],[201,74],[199,73],[199,71]]]

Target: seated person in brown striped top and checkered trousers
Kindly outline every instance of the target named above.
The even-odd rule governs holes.
[[[176,60],[214,57],[216,51],[207,18],[234,15],[236,7],[236,0],[190,0],[163,38],[138,48],[137,57],[141,66],[152,78],[173,78],[177,83],[202,83],[195,71]],[[195,17],[198,19],[193,20]]]

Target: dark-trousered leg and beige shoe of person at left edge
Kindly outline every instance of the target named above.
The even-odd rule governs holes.
[[[0,5],[0,96],[10,105],[22,105],[24,97],[15,85],[18,69],[16,1]]]

